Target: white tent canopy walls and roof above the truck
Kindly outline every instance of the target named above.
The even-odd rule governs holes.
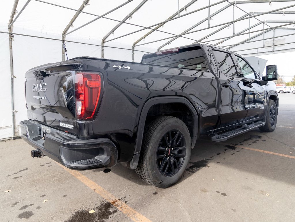
[[[148,52],[197,42],[244,56],[295,49],[295,1],[288,0],[10,0],[2,2],[0,18],[0,140],[18,136],[17,125],[27,119],[24,73],[61,61],[63,43],[69,59],[136,62]]]

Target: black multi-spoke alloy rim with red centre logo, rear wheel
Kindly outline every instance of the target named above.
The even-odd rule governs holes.
[[[181,168],[186,156],[184,137],[178,130],[170,130],[162,137],[157,148],[156,161],[163,176],[173,176]]]

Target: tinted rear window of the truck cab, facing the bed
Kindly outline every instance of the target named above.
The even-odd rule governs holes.
[[[199,46],[148,54],[142,57],[141,63],[209,71],[203,50]]]

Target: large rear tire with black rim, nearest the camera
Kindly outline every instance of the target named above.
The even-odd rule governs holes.
[[[183,121],[161,116],[145,126],[137,175],[160,188],[177,183],[189,163],[191,137]]]

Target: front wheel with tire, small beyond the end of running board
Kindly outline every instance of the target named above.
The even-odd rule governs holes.
[[[277,120],[278,109],[276,107],[276,103],[270,99],[267,106],[265,125],[263,127],[259,127],[259,129],[263,132],[273,132],[273,130],[276,129]]]

